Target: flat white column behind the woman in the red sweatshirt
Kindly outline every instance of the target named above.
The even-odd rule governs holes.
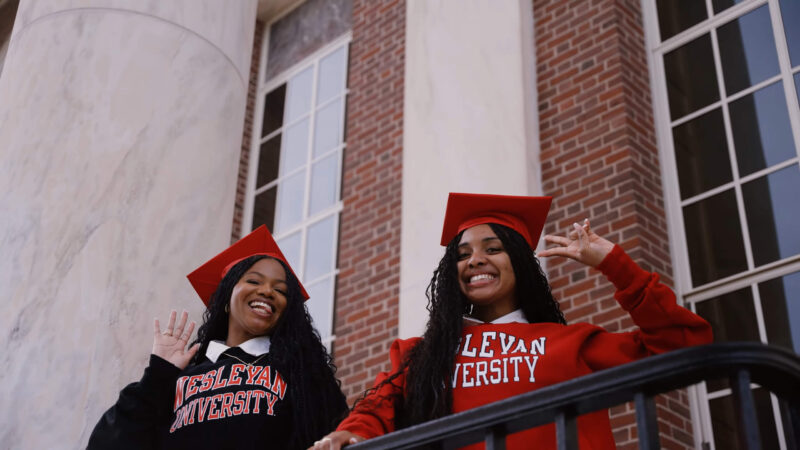
[[[447,193],[541,193],[531,0],[406,5],[400,337],[425,327]]]

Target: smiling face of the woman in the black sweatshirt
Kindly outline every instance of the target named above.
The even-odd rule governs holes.
[[[264,258],[245,272],[233,288],[228,316],[228,346],[268,335],[286,311],[286,271],[276,260]]]

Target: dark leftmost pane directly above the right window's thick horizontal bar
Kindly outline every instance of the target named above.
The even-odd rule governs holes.
[[[692,285],[700,286],[747,269],[733,190],[683,208]]]

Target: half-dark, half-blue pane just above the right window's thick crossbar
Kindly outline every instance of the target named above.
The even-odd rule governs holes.
[[[800,253],[797,164],[742,185],[756,266]]]

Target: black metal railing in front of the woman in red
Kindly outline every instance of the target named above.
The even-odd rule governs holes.
[[[739,415],[741,448],[761,448],[751,383],[780,402],[787,449],[800,438],[800,357],[757,343],[735,342],[692,347],[548,386],[533,392],[453,414],[350,446],[353,450],[454,449],[485,442],[505,449],[505,437],[555,422],[559,450],[577,449],[576,418],[633,401],[639,448],[660,448],[654,396],[701,381],[728,378]]]

